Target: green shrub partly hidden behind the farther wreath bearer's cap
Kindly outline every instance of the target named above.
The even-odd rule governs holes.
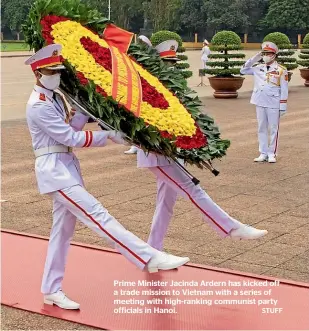
[[[190,68],[190,65],[189,63],[186,62],[188,60],[188,57],[183,54],[186,51],[186,49],[182,46],[182,39],[179,36],[179,34],[168,30],[162,30],[154,33],[150,38],[150,41],[154,47],[163,43],[166,40],[176,40],[178,42],[177,57],[182,62],[178,62],[176,64],[176,68],[181,70],[184,78],[191,77],[192,71],[186,70]]]

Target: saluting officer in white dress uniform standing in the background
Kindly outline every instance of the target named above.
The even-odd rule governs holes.
[[[277,54],[278,47],[274,43],[264,42],[262,52],[249,59],[240,70],[243,75],[254,75],[251,103],[256,105],[260,151],[255,162],[276,162],[280,117],[287,111],[288,72],[276,61]],[[261,59],[264,63],[257,64]]]

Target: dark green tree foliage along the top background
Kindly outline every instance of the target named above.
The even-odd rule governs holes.
[[[19,31],[34,2],[3,1],[1,28]],[[108,17],[108,0],[82,2]],[[210,38],[221,30],[267,34],[275,29],[296,35],[309,29],[309,0],[111,0],[111,20],[138,34],[144,26],[145,7],[154,32],[175,31],[191,40],[194,33]]]

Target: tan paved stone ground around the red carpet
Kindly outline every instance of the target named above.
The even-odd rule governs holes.
[[[199,83],[198,52],[188,52]],[[248,56],[251,55],[248,52]],[[51,202],[37,192],[34,157],[27,131],[25,102],[33,78],[23,58],[2,59],[2,228],[49,235]],[[205,83],[207,80],[205,79]],[[207,84],[208,85],[208,84]],[[290,83],[288,114],[280,125],[277,164],[254,164],[258,155],[254,107],[249,104],[252,79],[247,77],[239,98],[218,100],[208,86],[196,90],[220,127],[232,141],[228,155],[216,162],[221,171],[213,177],[207,170],[190,168],[208,194],[240,221],[269,230],[254,242],[221,240],[205,225],[199,212],[183,200],[165,241],[168,252],[186,254],[194,263],[309,282],[309,90],[296,70]],[[89,124],[89,129],[96,129]],[[147,170],[136,169],[136,157],[126,148],[77,150],[88,190],[129,230],[147,239],[155,203],[155,180]],[[75,241],[107,246],[82,225]],[[39,289],[38,289],[39,290]],[[15,309],[2,307],[3,330],[90,330]]]

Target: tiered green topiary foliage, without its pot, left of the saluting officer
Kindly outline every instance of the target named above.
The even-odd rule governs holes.
[[[240,68],[245,63],[245,54],[233,53],[242,49],[240,37],[233,31],[220,31],[210,42],[212,53],[208,56],[207,69],[204,73],[216,77],[233,77],[240,74]]]

